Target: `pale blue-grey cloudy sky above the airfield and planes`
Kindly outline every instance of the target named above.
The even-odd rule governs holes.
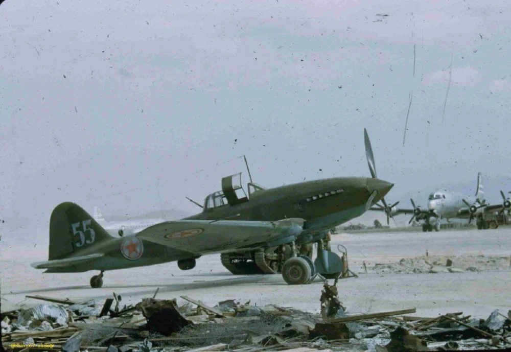
[[[0,229],[47,237],[62,201],[194,214],[185,196],[247,181],[243,154],[268,187],[369,176],[364,127],[389,202],[472,194],[478,171],[500,201],[509,18],[503,0],[7,0]]]

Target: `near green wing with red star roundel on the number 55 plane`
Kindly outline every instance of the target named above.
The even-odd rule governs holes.
[[[177,220],[150,226],[135,236],[176,250],[197,254],[223,253],[294,238],[303,230],[303,219],[279,221]]]

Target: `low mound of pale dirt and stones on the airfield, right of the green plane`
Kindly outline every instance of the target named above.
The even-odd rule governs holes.
[[[509,256],[419,256],[414,258],[403,258],[398,263],[381,264],[367,268],[377,273],[442,273],[442,272],[465,272],[465,271],[496,271],[511,268],[511,257]]]

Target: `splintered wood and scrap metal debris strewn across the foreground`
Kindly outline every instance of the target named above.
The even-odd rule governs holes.
[[[2,313],[2,346],[65,352],[259,350],[401,352],[511,347],[511,311],[487,319],[461,312],[415,317],[415,309],[349,315],[334,285],[324,283],[320,314],[229,299],[215,307],[187,296],[144,298],[120,308],[113,294],[95,301],[47,300],[31,309]],[[112,308],[113,301],[116,301]],[[28,349],[26,349],[28,351]]]

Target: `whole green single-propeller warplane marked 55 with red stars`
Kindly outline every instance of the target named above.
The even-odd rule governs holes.
[[[99,288],[106,270],[173,261],[180,269],[188,270],[202,255],[256,255],[287,245],[291,256],[283,264],[282,276],[288,284],[306,284],[316,273],[339,276],[342,259],[323,248],[322,240],[332,227],[359,217],[371,205],[383,201],[393,186],[376,177],[365,129],[364,140],[372,178],[336,177],[273,189],[249,183],[249,199],[246,195],[239,197],[244,191],[233,185],[233,177],[224,177],[223,191],[207,196],[200,214],[161,222],[131,236],[112,237],[80,206],[61,203],[50,217],[49,261],[31,265],[49,273],[100,270],[90,279],[90,286]],[[234,217],[239,219],[227,220]],[[318,243],[314,262],[296,250],[296,245],[313,242]],[[260,259],[264,262],[265,256]],[[237,262],[230,264],[236,266]]]

